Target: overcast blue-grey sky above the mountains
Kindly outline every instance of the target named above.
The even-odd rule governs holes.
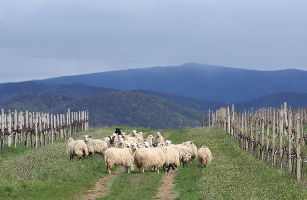
[[[307,70],[306,0],[1,0],[0,82],[197,62]]]

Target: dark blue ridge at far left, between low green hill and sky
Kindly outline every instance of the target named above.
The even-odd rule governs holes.
[[[0,84],[0,101],[12,98],[16,95],[27,93],[58,93],[65,94],[71,97],[85,97],[96,94],[106,94],[117,92],[113,88],[96,87],[83,83],[42,83],[36,81],[23,81]]]

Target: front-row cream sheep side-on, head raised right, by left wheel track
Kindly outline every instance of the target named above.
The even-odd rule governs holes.
[[[130,173],[129,166],[134,162],[136,149],[137,144],[131,144],[130,148],[108,148],[104,152],[104,164],[107,168],[107,173],[113,175],[110,168],[114,165],[125,166],[127,173]]]

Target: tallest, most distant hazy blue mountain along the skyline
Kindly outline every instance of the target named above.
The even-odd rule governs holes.
[[[257,71],[198,63],[62,76],[45,83],[80,82],[117,90],[151,90],[219,102],[239,102],[284,91],[307,92],[307,71]]]

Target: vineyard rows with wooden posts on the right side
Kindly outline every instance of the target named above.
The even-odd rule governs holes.
[[[280,108],[260,108],[238,113],[232,104],[212,112],[211,125],[223,128],[239,147],[269,165],[307,182],[307,125],[305,109],[292,110],[287,102]],[[305,133],[304,133],[305,132]]]

